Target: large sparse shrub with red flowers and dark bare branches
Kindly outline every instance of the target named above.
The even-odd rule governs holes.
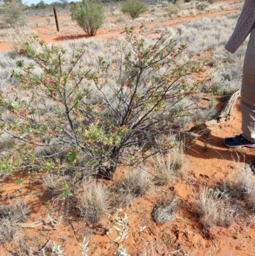
[[[189,114],[182,102],[198,83],[187,84],[184,77],[199,67],[189,62],[179,65],[178,57],[186,45],[177,46],[168,34],[147,45],[133,34],[134,29],[127,27],[123,32],[129,48],[122,52],[124,57],[119,59],[116,73],[110,72],[102,57],[97,72],[85,70],[85,50],[76,49],[69,55],[65,49],[49,46],[37,37],[20,49],[18,55],[23,57],[18,59],[18,70],[11,77],[33,94],[19,98],[15,88],[8,94],[1,93],[1,112],[17,117],[12,122],[2,119],[1,128],[30,144],[66,146],[64,159],[55,161],[59,158],[57,152],[52,155],[54,162],[45,156],[43,169],[112,177],[120,163],[139,165],[149,158],[142,151],[126,149],[150,148],[157,135],[168,132],[175,120]],[[27,135],[33,135],[33,140]],[[79,167],[81,153],[84,161]],[[176,168],[181,164],[179,160],[175,160]]]

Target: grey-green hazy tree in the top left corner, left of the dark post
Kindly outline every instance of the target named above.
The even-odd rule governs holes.
[[[20,0],[0,0],[1,21],[11,27],[22,25],[25,22],[24,10],[26,6]]]

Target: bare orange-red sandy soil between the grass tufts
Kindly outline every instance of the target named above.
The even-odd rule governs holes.
[[[235,11],[235,10],[233,10]],[[186,17],[175,20],[165,20],[160,22],[162,26],[175,26],[184,20],[200,19],[201,17],[212,17],[231,11],[220,11],[197,17]],[[39,19],[39,18],[38,18]],[[43,18],[40,18],[43,19]],[[147,27],[153,27],[156,22],[150,22]],[[42,29],[40,27],[40,29]],[[40,30],[41,31],[41,30]],[[83,37],[83,34],[69,34],[62,36],[55,33],[48,36],[48,28],[43,27],[41,37],[48,42],[61,41],[64,39]],[[119,31],[109,31],[101,29],[96,34],[96,38],[111,39],[119,35]],[[8,49],[8,45],[0,44],[1,50]],[[219,108],[224,103],[219,103]],[[190,124],[189,126],[192,126]],[[182,168],[185,176],[180,176],[177,183],[172,186],[154,186],[149,193],[132,201],[131,206],[124,208],[124,212],[129,216],[129,232],[123,247],[129,248],[130,255],[152,248],[152,252],[147,255],[255,255],[255,229],[254,223],[236,220],[230,227],[212,227],[205,235],[201,227],[200,220],[192,214],[191,205],[198,196],[200,184],[207,183],[214,187],[216,183],[224,181],[239,162],[254,162],[255,149],[229,149],[224,146],[223,140],[241,132],[240,104],[237,102],[233,115],[228,123],[215,126],[207,135],[203,135],[187,143],[186,163]],[[123,176],[124,170],[117,170],[115,176]],[[15,174],[16,175],[16,174]],[[21,172],[17,174],[24,177],[22,185],[14,183],[15,176],[4,179],[1,184],[3,193],[0,195],[1,202],[8,199],[24,199],[31,210],[31,215],[27,222],[35,222],[38,219],[47,218],[48,213],[59,216],[59,212],[54,212],[55,206],[50,200],[46,201],[41,197],[41,175],[27,174]],[[196,179],[194,184],[188,184],[188,179]],[[109,183],[111,181],[105,181]],[[179,199],[180,209],[177,210],[177,219],[163,225],[157,225],[150,215],[154,202],[159,196],[167,197],[173,193]],[[122,213],[123,214],[123,213]],[[68,256],[81,255],[78,243],[82,243],[86,236],[89,241],[89,255],[113,255],[118,244],[112,243],[118,234],[113,232],[106,235],[105,229],[110,227],[112,217],[105,217],[96,227],[91,228],[84,222],[69,216],[63,218],[56,230],[44,230],[42,226],[33,229],[24,229],[20,232],[22,237],[31,246],[42,247],[48,239],[65,248]],[[147,232],[140,232],[141,227],[146,226]],[[114,229],[113,229],[114,230]],[[112,246],[110,246],[112,243]],[[0,246],[0,255],[7,255],[11,250],[11,245]],[[110,248],[110,250],[108,250]],[[182,248],[182,250],[179,250]],[[171,252],[175,252],[171,254]]]

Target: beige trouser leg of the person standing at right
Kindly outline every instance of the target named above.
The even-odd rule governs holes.
[[[244,57],[241,96],[242,135],[252,141],[255,140],[255,27]]]

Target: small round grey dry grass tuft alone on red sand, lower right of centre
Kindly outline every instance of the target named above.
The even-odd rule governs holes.
[[[177,207],[176,199],[165,199],[156,202],[152,208],[152,218],[156,223],[166,223],[175,220],[173,211]]]

